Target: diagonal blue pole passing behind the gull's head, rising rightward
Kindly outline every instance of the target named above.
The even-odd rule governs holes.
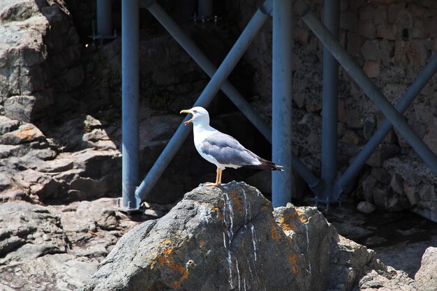
[[[271,7],[271,1],[267,0],[256,11],[255,15],[253,15],[251,21],[249,24],[247,24],[241,36],[239,36],[235,42],[235,45],[223,60],[223,63],[220,65],[220,67],[218,67],[216,73],[207,84],[205,90],[203,90],[202,94],[200,94],[200,97],[195,102],[194,106],[207,107],[207,105],[209,105],[220,89],[221,84],[223,84],[228,75],[232,72],[233,68],[235,68],[235,65],[239,59],[241,59],[247,47],[249,47],[256,33],[258,33],[264,22],[269,17],[268,13],[270,12]],[[186,117],[184,121],[186,120],[188,120],[188,117]],[[168,166],[179,147],[182,146],[182,143],[190,133],[191,129],[192,128],[185,128],[184,123],[177,128],[175,135],[172,136],[164,151],[158,157],[158,160],[151,167],[149,173],[135,191],[135,196],[138,200],[145,198],[147,193],[151,191],[151,188],[156,184],[156,181],[158,181],[158,178],[161,177],[161,174],[164,172],[165,167]]]

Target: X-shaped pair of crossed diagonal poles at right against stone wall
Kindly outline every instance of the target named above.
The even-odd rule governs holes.
[[[408,105],[413,101],[415,96],[419,94],[420,90],[424,87],[431,76],[436,72],[437,58],[433,57],[431,59],[427,67],[422,71],[422,73],[420,73],[417,80],[413,83],[410,89],[408,89],[396,107],[393,107],[390,101],[380,93],[375,84],[373,84],[369,77],[366,76],[360,66],[358,66],[346,50],[341,47],[335,36],[322,24],[322,22],[320,22],[320,20],[318,20],[316,15],[312,13],[309,6],[303,0],[296,0],[294,8],[302,17],[302,20],[304,20],[306,25],[316,34],[323,45],[325,45],[326,50],[328,50],[332,56],[339,61],[339,64],[343,66],[344,70],[348,72],[350,77],[355,80],[364,93],[366,93],[366,95],[373,101],[376,107],[378,107],[378,109],[385,114],[385,117],[387,117],[387,121],[380,126],[375,135],[371,138],[368,144],[366,144],[363,151],[360,152],[352,165],[350,165],[348,170],[346,170],[345,174],[336,182],[332,196],[327,195],[326,192],[322,190],[321,193],[316,193],[316,196],[321,194],[319,200],[325,200],[328,205],[329,202],[336,202],[339,200],[343,188],[350,183],[356,174],[358,174],[358,171],[364,165],[366,159],[369,158],[385,135],[387,135],[392,128],[392,125],[399,131],[399,133],[401,133],[401,135],[403,135],[403,137],[405,137],[411,147],[415,149],[417,154],[419,154],[423,161],[427,163],[431,170],[437,174],[436,155],[431,151],[431,149],[429,149],[427,144],[423,142],[419,135],[417,135],[413,128],[408,124],[406,119],[401,115],[401,113],[404,112]]]

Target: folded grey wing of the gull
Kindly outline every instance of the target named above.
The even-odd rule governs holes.
[[[209,135],[201,145],[201,150],[216,158],[223,165],[257,165],[260,163],[258,156],[253,154],[234,137],[224,133]]]

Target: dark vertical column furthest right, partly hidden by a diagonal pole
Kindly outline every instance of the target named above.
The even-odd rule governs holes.
[[[325,0],[325,26],[334,38],[339,39],[340,1]],[[321,199],[329,204],[336,178],[337,163],[337,104],[339,63],[323,49],[323,116],[322,116],[322,181]],[[316,197],[316,200],[319,197]]]

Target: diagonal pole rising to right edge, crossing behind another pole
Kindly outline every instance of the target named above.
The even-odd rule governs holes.
[[[427,66],[424,67],[422,72],[417,76],[416,80],[411,84],[410,88],[403,94],[397,105],[396,109],[403,113],[408,108],[408,106],[413,102],[417,94],[422,91],[422,89],[427,85],[431,77],[437,71],[437,54],[434,54],[429,60]],[[369,142],[367,142],[359,154],[353,159],[352,163],[350,163],[348,169],[343,173],[340,177],[339,181],[336,182],[334,187],[334,199],[338,198],[343,190],[347,188],[350,183],[352,183],[353,179],[357,177],[357,174],[362,169],[364,163],[366,163],[367,159],[371,156],[373,151],[376,150],[378,144],[384,140],[384,137],[390,130],[393,128],[390,121],[387,119],[383,121],[378,130],[373,134]]]

